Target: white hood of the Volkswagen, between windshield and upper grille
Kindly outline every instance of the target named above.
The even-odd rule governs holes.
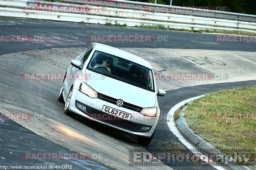
[[[134,85],[92,72],[90,70],[86,70],[86,75],[89,75],[86,77],[87,84],[98,93],[116,99],[122,99],[124,102],[131,103],[143,108],[155,107],[155,92],[136,87]],[[91,75],[95,75],[94,77],[97,76],[97,79],[93,79],[93,76]]]

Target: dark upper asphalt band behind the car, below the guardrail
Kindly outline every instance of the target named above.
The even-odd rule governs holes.
[[[24,20],[1,18],[0,20],[2,35],[30,35],[61,37],[60,43],[24,43],[22,46],[12,46],[13,43],[2,43],[0,54],[13,53],[31,49],[60,48],[60,47],[84,47],[87,45],[89,35],[168,35],[168,42],[153,41],[150,43],[108,43],[110,46],[117,47],[139,47],[139,48],[179,48],[179,49],[209,49],[209,50],[231,50],[231,51],[255,51],[254,43],[219,43],[214,42],[214,34],[202,34],[191,32],[177,32],[165,30],[150,30],[143,28],[116,27],[107,25],[90,25],[79,23],[63,23],[42,20]],[[82,34],[82,35],[81,35]],[[74,38],[76,37],[76,38]],[[77,39],[78,38],[78,39]],[[65,39],[73,41],[65,41]],[[77,42],[78,41],[78,42]],[[72,44],[73,43],[73,44]],[[17,43],[14,43],[17,44]]]

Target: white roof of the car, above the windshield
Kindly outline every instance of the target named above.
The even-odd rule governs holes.
[[[132,53],[128,53],[127,51],[124,51],[124,50],[121,50],[121,49],[118,49],[118,48],[115,48],[112,46],[108,46],[105,44],[92,43],[92,45],[94,46],[94,49],[97,51],[109,53],[109,54],[115,55],[117,57],[121,57],[126,60],[130,60],[132,62],[135,62],[137,64],[140,64],[142,66],[152,69],[152,66],[150,65],[150,63],[147,60],[144,60],[143,58],[141,58],[137,55],[134,55]]]

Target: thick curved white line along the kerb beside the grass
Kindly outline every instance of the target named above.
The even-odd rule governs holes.
[[[199,152],[193,145],[191,145],[190,143],[188,143],[188,141],[183,138],[183,136],[180,134],[180,131],[178,131],[177,127],[175,126],[175,122],[173,119],[173,114],[174,112],[180,108],[180,106],[184,105],[185,103],[189,103],[192,100],[195,100],[197,98],[203,97],[205,95],[201,95],[201,96],[196,96],[196,97],[192,97],[190,99],[184,100],[178,104],[176,104],[175,106],[172,107],[172,109],[168,112],[167,114],[167,125],[170,129],[170,131],[180,140],[180,142],[182,144],[184,144],[193,154],[195,154],[199,159],[202,159],[204,162],[206,162],[207,164],[211,165],[212,167],[214,167],[215,169],[218,170],[225,170],[225,168],[223,168],[222,166],[219,166],[218,164],[216,164],[215,162],[213,162],[211,159],[208,159],[207,156],[205,156],[204,154],[202,154],[201,152]],[[206,158],[206,159],[203,159]]]

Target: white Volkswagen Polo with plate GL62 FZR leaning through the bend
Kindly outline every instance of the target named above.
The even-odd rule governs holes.
[[[71,65],[59,93],[64,113],[76,114],[137,136],[148,145],[160,115],[154,72],[134,54],[100,43],[90,44]]]

